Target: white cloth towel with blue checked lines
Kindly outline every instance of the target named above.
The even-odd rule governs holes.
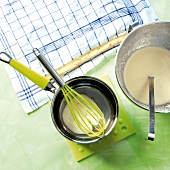
[[[0,51],[32,70],[46,71],[34,56],[39,48],[54,68],[86,53],[126,31],[132,22],[157,20],[148,0],[2,0],[0,1]],[[65,80],[84,75],[106,55],[67,73]],[[16,70],[5,65],[26,113],[53,96]]]

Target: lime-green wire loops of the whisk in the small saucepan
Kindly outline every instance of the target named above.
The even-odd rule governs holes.
[[[77,126],[88,136],[103,136],[106,122],[101,110],[67,84],[63,86],[61,90]],[[83,112],[79,105],[83,107],[86,112]],[[95,121],[97,125],[92,123],[92,120]]]

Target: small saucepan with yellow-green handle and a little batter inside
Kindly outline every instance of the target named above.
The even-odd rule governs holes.
[[[37,54],[37,57],[40,57],[38,55],[42,54]],[[61,88],[56,88],[49,79],[11,58],[6,52],[0,53],[0,60],[12,66],[41,89],[54,93],[51,116],[56,129],[61,135],[81,144],[94,143],[101,139],[101,137],[89,136],[78,128],[71,117],[72,115],[65,111],[67,104]],[[113,130],[118,118],[118,101],[113,90],[105,82],[90,76],[76,77],[66,83],[79,94],[90,98],[100,108],[106,122],[102,138],[107,136]]]

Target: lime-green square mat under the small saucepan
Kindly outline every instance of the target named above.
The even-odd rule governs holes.
[[[104,82],[106,82],[113,90],[113,85],[108,76],[104,76],[101,78]],[[132,123],[126,113],[120,99],[118,98],[119,103],[119,116],[116,126],[112,130],[112,132],[105,138],[93,144],[78,144],[67,140],[68,145],[77,161],[80,161],[99,150],[102,150],[115,142],[118,142],[132,134],[135,133],[135,130],[132,126]]]

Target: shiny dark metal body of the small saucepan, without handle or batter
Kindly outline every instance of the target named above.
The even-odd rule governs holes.
[[[118,102],[112,89],[103,81],[88,76],[82,76],[71,79],[67,84],[80,94],[84,94],[91,98],[104,113],[106,120],[105,136],[107,136],[114,128],[118,117]],[[101,138],[89,137],[86,134],[77,134],[68,128],[64,122],[63,110],[66,106],[66,101],[61,90],[56,93],[52,101],[52,120],[57,130],[67,139],[88,144],[93,143]]]

